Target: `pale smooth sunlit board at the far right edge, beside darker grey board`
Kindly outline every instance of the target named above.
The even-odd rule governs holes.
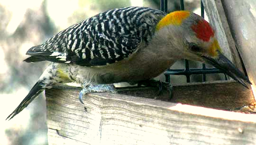
[[[256,94],[256,2],[222,0],[232,36],[238,46],[247,74]]]

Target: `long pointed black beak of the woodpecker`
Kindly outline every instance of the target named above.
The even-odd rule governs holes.
[[[223,73],[228,74],[231,78],[241,83],[243,86],[245,86],[247,89],[248,86],[246,84],[252,84],[248,77],[245,76],[241,71],[236,68],[236,66],[229,61],[229,59],[224,56],[222,53],[218,51],[218,56],[216,58],[212,58],[210,56],[201,56],[206,63],[211,64],[212,66],[218,68],[220,71],[223,71]]]

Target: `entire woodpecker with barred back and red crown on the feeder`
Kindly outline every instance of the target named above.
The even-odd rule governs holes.
[[[111,9],[64,29],[27,55],[27,63],[51,63],[9,119],[56,84],[81,84],[82,102],[85,93],[115,92],[113,83],[153,79],[183,58],[210,63],[245,87],[250,83],[222,54],[213,27],[188,11]]]

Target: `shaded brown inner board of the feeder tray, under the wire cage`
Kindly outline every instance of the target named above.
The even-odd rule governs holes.
[[[186,84],[174,84],[174,96],[169,100],[166,90],[163,94],[156,96],[156,88],[122,88],[119,93],[159,99],[182,104],[190,104],[215,109],[234,109],[255,102],[250,89],[243,87],[235,81],[215,81],[215,82],[194,82]],[[122,91],[123,90],[123,91]]]

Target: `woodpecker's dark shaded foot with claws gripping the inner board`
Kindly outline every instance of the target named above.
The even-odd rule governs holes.
[[[161,82],[161,81],[156,81],[156,80],[146,80],[146,81],[140,81],[138,82],[138,86],[145,85],[148,87],[157,87],[157,95],[160,95],[163,92],[163,87],[167,89],[169,92],[169,99],[173,98],[173,86],[171,83],[168,82]]]

